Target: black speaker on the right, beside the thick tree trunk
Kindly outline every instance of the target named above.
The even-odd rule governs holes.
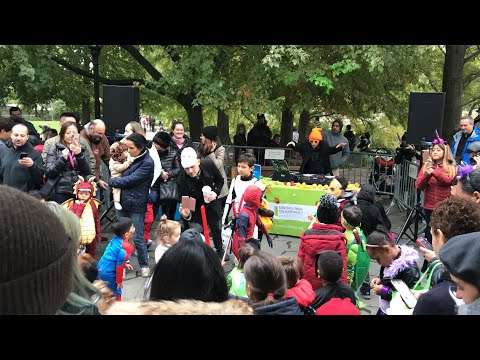
[[[445,93],[410,93],[407,142],[420,145],[422,140],[435,139],[435,130],[442,136]]]

